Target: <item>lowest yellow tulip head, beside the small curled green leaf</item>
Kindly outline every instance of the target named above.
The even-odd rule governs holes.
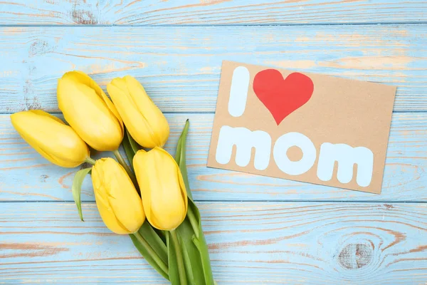
[[[145,220],[142,201],[122,165],[101,158],[92,168],[97,209],[108,229],[116,234],[133,234]]]

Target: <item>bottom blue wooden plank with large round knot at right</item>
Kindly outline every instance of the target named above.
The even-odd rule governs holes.
[[[218,284],[424,284],[427,205],[202,202]],[[167,284],[95,204],[1,203],[0,280]]]

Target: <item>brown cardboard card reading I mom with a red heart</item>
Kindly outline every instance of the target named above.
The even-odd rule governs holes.
[[[208,166],[379,194],[395,93],[223,61]]]

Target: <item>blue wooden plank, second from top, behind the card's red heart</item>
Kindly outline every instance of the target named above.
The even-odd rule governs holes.
[[[66,71],[105,88],[137,77],[165,112],[215,110],[221,61],[241,61],[398,86],[396,111],[427,110],[427,25],[2,27],[0,113],[58,112]]]

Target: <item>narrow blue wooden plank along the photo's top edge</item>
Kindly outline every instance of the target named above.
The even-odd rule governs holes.
[[[422,0],[1,2],[2,25],[255,25],[426,21]]]

